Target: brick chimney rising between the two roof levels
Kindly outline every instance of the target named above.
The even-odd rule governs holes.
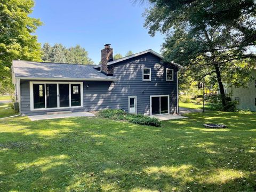
[[[101,50],[101,71],[106,75],[113,75],[113,67],[107,66],[109,61],[113,61],[113,49],[110,44],[104,45],[105,48]]]

